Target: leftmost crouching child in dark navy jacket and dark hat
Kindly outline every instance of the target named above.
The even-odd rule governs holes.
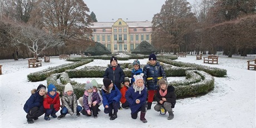
[[[33,124],[34,120],[37,120],[39,116],[45,112],[43,110],[43,96],[45,95],[46,86],[40,84],[37,89],[31,90],[31,96],[26,101],[23,109],[27,113],[28,124]]]

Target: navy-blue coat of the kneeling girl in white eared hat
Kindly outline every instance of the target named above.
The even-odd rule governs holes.
[[[147,89],[146,87],[144,87],[144,89],[141,90],[141,94],[140,94],[139,91],[135,92],[133,87],[129,87],[129,89],[125,93],[125,98],[130,104],[131,114],[134,114],[135,112],[139,112],[142,104],[146,102]],[[137,99],[140,100],[139,104],[136,104]]]

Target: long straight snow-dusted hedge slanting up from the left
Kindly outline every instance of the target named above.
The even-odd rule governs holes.
[[[27,78],[29,81],[32,81],[32,82],[43,81],[43,80],[46,80],[46,78],[53,73],[65,72],[65,70],[76,68],[92,61],[93,59],[86,59],[78,62],[66,63],[64,65],[60,65],[56,67],[50,67],[50,68],[47,68],[46,70],[29,73],[29,75],[27,75]]]

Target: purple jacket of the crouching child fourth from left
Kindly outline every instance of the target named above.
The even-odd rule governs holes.
[[[83,95],[83,108],[88,111],[90,110],[90,106],[88,104],[88,93],[87,91],[85,91],[84,95]],[[93,90],[92,92],[92,103],[95,102],[96,104],[100,104],[101,100],[100,100],[100,96],[99,93],[96,92],[96,90]],[[92,104],[91,104],[92,105]]]

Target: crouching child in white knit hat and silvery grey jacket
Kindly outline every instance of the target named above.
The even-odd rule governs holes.
[[[62,92],[61,103],[61,115],[58,116],[58,119],[65,117],[67,113],[71,116],[80,116],[79,112],[82,110],[82,107],[77,105],[76,94],[73,93],[73,87],[70,83],[65,85],[65,89]]]

